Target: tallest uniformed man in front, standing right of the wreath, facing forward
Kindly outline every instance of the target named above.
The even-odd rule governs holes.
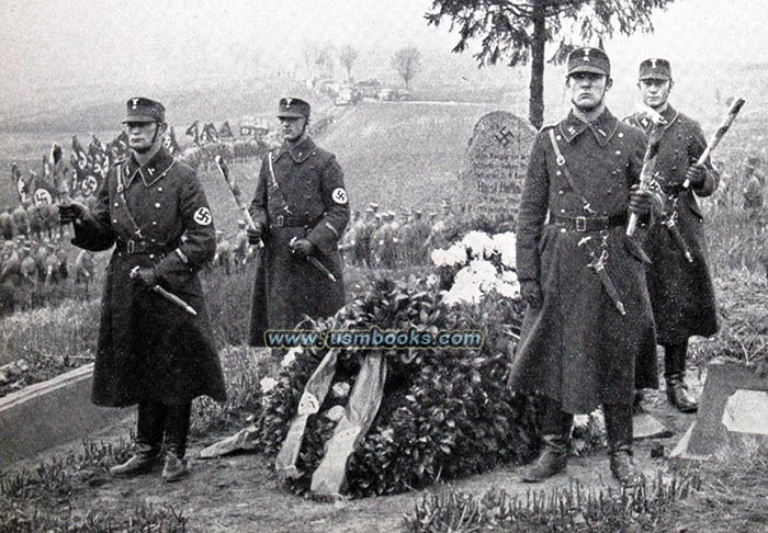
[[[656,341],[643,253],[625,228],[628,212],[648,218],[663,200],[634,186],[645,140],[606,107],[608,56],[577,48],[567,72],[572,110],[535,137],[518,217],[528,306],[509,383],[545,404],[543,451],[522,477],[541,481],[565,469],[574,413],[602,405],[611,472],[634,484],[634,366],[654,360]]]

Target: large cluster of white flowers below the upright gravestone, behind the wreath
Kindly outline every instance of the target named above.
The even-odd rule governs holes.
[[[511,231],[488,236],[473,230],[447,250],[433,250],[436,266],[459,268],[443,300],[448,305],[478,304],[493,292],[505,298],[520,297],[515,241]]]

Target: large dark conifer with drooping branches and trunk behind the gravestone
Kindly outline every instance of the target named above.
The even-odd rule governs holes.
[[[461,36],[453,52],[467,49],[468,42],[482,39],[475,54],[481,67],[501,59],[510,67],[531,61],[529,120],[535,127],[544,121],[544,46],[558,42],[551,63],[562,63],[576,37],[602,47],[603,37],[614,31],[623,35],[653,32],[651,14],[674,0],[432,0],[425,14],[428,24],[450,20]]]

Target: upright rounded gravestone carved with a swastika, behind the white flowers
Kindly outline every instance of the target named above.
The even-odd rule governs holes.
[[[517,216],[534,136],[528,121],[506,111],[477,121],[459,174],[471,209],[504,220]]]

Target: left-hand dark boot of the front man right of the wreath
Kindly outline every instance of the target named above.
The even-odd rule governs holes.
[[[545,398],[541,424],[543,447],[535,463],[523,470],[523,481],[540,483],[565,470],[568,465],[568,441],[573,423],[574,416],[563,412],[558,401]]]

